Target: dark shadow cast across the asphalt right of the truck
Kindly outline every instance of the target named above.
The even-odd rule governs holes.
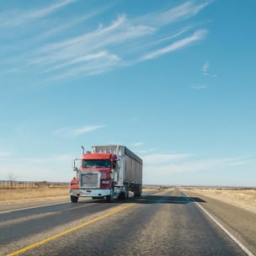
[[[167,195],[147,195],[135,199],[136,204],[189,204],[193,202],[205,203],[206,201],[199,197]]]

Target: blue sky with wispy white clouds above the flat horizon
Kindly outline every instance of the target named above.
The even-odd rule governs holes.
[[[144,184],[256,185],[256,3],[0,5],[0,179],[69,181],[121,144]]]

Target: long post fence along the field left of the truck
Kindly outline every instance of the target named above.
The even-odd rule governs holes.
[[[68,182],[0,180],[0,189],[68,188]]]

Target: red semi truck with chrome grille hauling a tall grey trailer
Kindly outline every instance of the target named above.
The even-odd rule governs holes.
[[[72,203],[79,197],[125,200],[129,192],[134,196],[142,193],[142,159],[125,146],[93,146],[82,158],[73,161],[76,175],[70,183],[69,195]],[[78,165],[78,166],[77,166]]]

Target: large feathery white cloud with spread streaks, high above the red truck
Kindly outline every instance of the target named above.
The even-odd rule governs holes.
[[[111,53],[113,50],[107,50],[109,47],[154,31],[147,25],[131,26],[127,23],[125,15],[120,15],[107,27],[100,24],[95,31],[40,48],[29,62],[31,65],[46,67],[44,72],[62,71],[63,67],[67,67],[65,77],[109,71],[118,67],[121,61],[119,55]]]

